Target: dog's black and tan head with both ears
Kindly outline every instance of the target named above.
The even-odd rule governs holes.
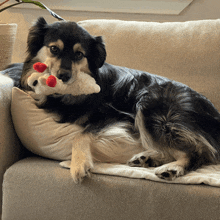
[[[91,36],[75,22],[47,24],[41,17],[30,29],[27,44],[28,56],[21,79],[24,88],[35,61],[46,63],[52,75],[70,84],[80,72],[93,75],[106,59],[102,38]]]

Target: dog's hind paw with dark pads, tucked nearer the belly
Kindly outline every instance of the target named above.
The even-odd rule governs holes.
[[[131,167],[158,167],[162,165],[161,155],[155,151],[152,152],[144,151],[134,155],[127,164]]]

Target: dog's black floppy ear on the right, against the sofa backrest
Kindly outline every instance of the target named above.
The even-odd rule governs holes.
[[[102,37],[94,37],[90,53],[88,57],[89,68],[95,70],[102,67],[106,59],[105,44]]]

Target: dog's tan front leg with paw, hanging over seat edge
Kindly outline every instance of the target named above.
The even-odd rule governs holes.
[[[93,168],[90,144],[89,134],[81,134],[74,139],[70,173],[75,183],[81,183],[84,177],[90,176],[90,169]]]

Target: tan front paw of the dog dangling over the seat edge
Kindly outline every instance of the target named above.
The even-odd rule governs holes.
[[[84,162],[80,164],[72,164],[70,173],[75,183],[81,183],[85,177],[91,177],[90,170],[93,168],[92,162]]]

